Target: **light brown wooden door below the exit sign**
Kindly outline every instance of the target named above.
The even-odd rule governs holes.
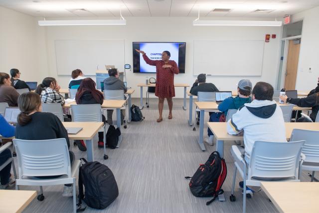
[[[289,40],[286,78],[285,78],[286,90],[294,90],[296,88],[299,50],[300,50],[300,43],[295,44],[293,40]]]

